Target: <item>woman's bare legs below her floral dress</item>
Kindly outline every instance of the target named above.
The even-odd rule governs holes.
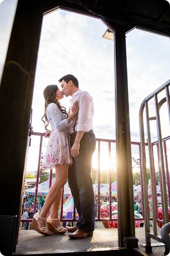
[[[59,208],[60,200],[61,200],[61,192],[60,191],[61,191],[62,187],[67,182],[68,169],[69,169],[68,164],[56,164],[55,165],[55,181],[48,191],[48,195],[46,197],[45,203],[43,205],[43,208],[40,211],[40,217],[46,218],[49,208],[51,206],[53,208],[53,206],[54,206],[54,209],[52,209],[52,212],[51,212],[51,217],[58,218],[58,208]],[[55,202],[55,204],[54,204],[54,202]],[[39,219],[38,223],[39,223],[40,227],[45,227],[44,219]],[[60,225],[57,224],[57,226],[60,226]]]

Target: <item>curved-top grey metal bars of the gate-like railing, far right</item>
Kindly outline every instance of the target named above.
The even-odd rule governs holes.
[[[139,120],[140,120],[140,140],[141,140],[141,148],[142,148],[142,187],[143,182],[144,184],[144,191],[142,191],[143,196],[145,196],[145,199],[143,200],[144,205],[144,216],[145,216],[145,236],[146,236],[146,251],[150,250],[151,248],[151,240],[150,238],[154,238],[156,240],[159,240],[157,236],[157,226],[156,221],[159,223],[165,224],[169,221],[168,218],[168,208],[167,208],[167,194],[166,194],[166,179],[165,179],[165,171],[164,171],[164,158],[163,158],[163,145],[164,141],[166,143],[167,140],[170,139],[170,136],[162,139],[161,136],[161,126],[160,126],[160,113],[159,109],[161,105],[163,105],[164,102],[167,101],[168,104],[168,111],[169,111],[169,102],[170,102],[170,96],[169,96],[169,86],[170,80],[168,80],[166,83],[164,83],[162,86],[160,86],[157,90],[155,90],[153,93],[151,93],[148,97],[144,99],[144,101],[141,104],[140,112],[139,112]],[[158,103],[157,94],[160,93],[166,89],[166,99],[162,99]],[[156,122],[157,122],[157,135],[158,135],[158,141],[151,143],[151,136],[150,136],[150,128],[149,128],[149,120],[154,120],[155,118],[149,118],[148,113],[148,101],[150,99],[154,98],[155,100],[155,112],[156,112]],[[151,172],[151,188],[152,188],[152,209],[153,209],[153,221],[154,221],[154,234],[150,235],[149,232],[149,218],[148,218],[148,188],[146,184],[146,152],[145,152],[145,137],[144,137],[144,126],[143,126],[143,110],[144,107],[146,107],[146,123],[147,123],[147,133],[148,133],[148,148],[149,148],[149,163],[150,163],[150,172]],[[169,111],[169,117],[170,117],[170,111]],[[154,151],[153,146],[157,145],[157,154],[158,154],[158,167],[159,167],[159,173],[160,173],[160,188],[161,188],[161,202],[163,205],[163,221],[158,220],[158,209],[157,209],[157,194],[156,194],[156,178],[155,178],[155,166],[154,166]],[[166,144],[164,144],[164,152],[165,152],[165,162],[167,161],[167,155],[166,155]],[[167,181],[169,181],[169,170],[167,170],[168,165],[166,165],[166,173],[167,173]],[[168,184],[169,187],[169,184]],[[169,191],[168,191],[169,192]],[[147,216],[145,215],[147,214]],[[150,218],[151,220],[151,218]],[[161,239],[160,239],[161,241]]]

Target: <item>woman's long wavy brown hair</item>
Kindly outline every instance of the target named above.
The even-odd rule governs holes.
[[[61,112],[64,114],[64,116],[67,118],[68,117],[68,114],[66,112],[66,108],[65,107],[62,107],[60,105],[60,102],[56,99],[56,92],[58,90],[58,86],[56,84],[51,84],[51,85],[48,85],[45,89],[44,89],[44,92],[43,92],[43,95],[44,95],[44,99],[45,99],[45,113],[42,117],[42,121],[45,125],[45,130],[46,131],[49,131],[47,129],[48,125],[49,125],[49,122],[47,120],[47,114],[46,114],[46,109],[47,109],[47,106],[50,104],[50,103],[55,103],[57,105],[58,108],[60,108]],[[43,120],[43,118],[45,118],[45,121]]]

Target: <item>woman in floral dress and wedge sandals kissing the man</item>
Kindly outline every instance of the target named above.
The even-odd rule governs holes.
[[[73,104],[72,115],[68,116],[65,107],[61,107],[59,100],[64,98],[57,85],[48,85],[44,90],[45,98],[45,117],[44,124],[51,125],[51,134],[49,136],[48,146],[46,149],[43,168],[52,169],[55,167],[55,182],[48,191],[43,208],[33,216],[31,229],[36,230],[42,235],[52,233],[64,234],[67,229],[61,226],[58,220],[58,209],[61,200],[61,189],[67,182],[69,165],[72,162],[70,154],[70,137],[68,126],[71,120],[75,119],[78,113],[78,101]],[[50,133],[50,131],[49,131]],[[51,215],[47,217],[48,211],[52,206]]]

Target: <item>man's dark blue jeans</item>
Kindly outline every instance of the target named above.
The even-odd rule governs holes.
[[[71,147],[74,144],[76,134],[70,136]],[[94,132],[84,133],[80,141],[79,156],[73,158],[73,164],[69,167],[68,183],[73,200],[79,214],[76,226],[85,232],[94,230],[95,202],[94,190],[91,178],[92,154],[96,146]]]

